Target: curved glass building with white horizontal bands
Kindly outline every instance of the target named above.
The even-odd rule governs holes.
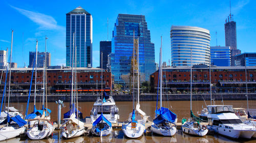
[[[174,26],[170,28],[172,66],[210,64],[210,32],[195,26]],[[191,50],[192,49],[192,50]]]

